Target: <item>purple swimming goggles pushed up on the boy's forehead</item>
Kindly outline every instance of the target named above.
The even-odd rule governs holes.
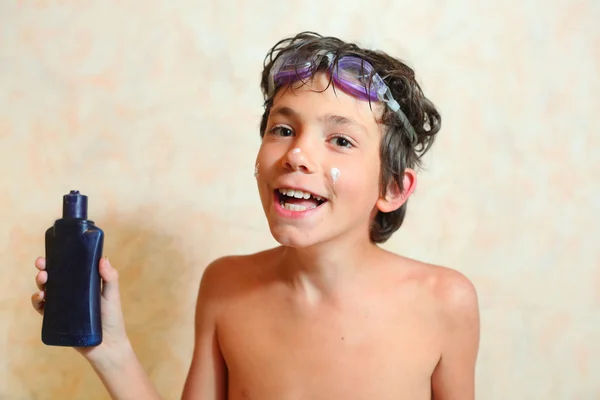
[[[292,82],[310,78],[317,70],[319,64],[327,58],[328,68],[331,70],[334,56],[331,53],[317,52],[312,60],[300,61],[294,57],[278,57],[269,74],[269,93],[272,94],[277,86],[287,85]],[[400,109],[400,104],[392,96],[390,88],[381,76],[375,72],[373,66],[367,61],[356,56],[341,57],[332,72],[332,79],[337,87],[351,96],[365,101],[381,101],[390,110],[394,111],[408,131],[412,141],[416,141],[417,134],[408,121],[406,114]]]

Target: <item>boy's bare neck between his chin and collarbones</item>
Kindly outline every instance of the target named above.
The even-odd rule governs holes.
[[[307,248],[284,247],[281,272],[309,302],[335,295],[358,274],[372,267],[380,249],[369,240],[337,240]]]

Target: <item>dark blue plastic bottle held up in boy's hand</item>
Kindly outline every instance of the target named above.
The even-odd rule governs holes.
[[[46,301],[42,342],[87,347],[102,342],[98,264],[104,232],[87,219],[87,196],[63,196],[62,218],[46,231]]]

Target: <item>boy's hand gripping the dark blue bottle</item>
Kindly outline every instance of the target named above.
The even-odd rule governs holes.
[[[41,315],[44,314],[44,301],[46,295],[46,259],[39,257],[35,260],[39,270],[35,283],[39,289],[31,296],[33,308]],[[102,318],[102,343],[95,347],[76,347],[92,365],[102,367],[116,364],[121,358],[129,355],[131,350],[123,312],[121,310],[121,297],[119,294],[119,274],[107,258],[103,257],[99,263],[100,277],[103,280],[102,296],[100,300],[100,315]]]

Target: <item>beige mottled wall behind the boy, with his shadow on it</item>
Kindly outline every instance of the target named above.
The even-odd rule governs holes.
[[[178,398],[204,266],[274,244],[258,79],[304,29],[407,59],[443,113],[386,247],[475,282],[478,398],[600,398],[600,3],[284,3],[0,3],[0,398],[106,398],[74,351],[42,345],[29,302],[70,189],[106,231],[146,371]]]

